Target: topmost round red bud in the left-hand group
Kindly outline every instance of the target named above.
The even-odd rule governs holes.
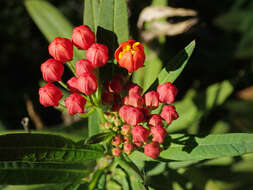
[[[78,49],[87,50],[95,42],[95,34],[87,25],[77,26],[73,30],[72,42]]]

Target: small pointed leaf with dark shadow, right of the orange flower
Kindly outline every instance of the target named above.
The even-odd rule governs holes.
[[[193,50],[195,48],[195,41],[192,41],[182,51],[180,51],[172,60],[162,69],[158,75],[158,83],[166,82],[173,83],[181,74],[189,61]]]

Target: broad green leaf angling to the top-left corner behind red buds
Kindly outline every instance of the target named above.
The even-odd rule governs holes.
[[[49,42],[56,37],[71,39],[72,25],[52,4],[44,0],[25,0],[25,7]]]

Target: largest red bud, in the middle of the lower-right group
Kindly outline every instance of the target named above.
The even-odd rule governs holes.
[[[144,119],[144,114],[140,109],[129,105],[124,105],[120,108],[119,116],[124,122],[130,125],[137,125],[137,123]]]

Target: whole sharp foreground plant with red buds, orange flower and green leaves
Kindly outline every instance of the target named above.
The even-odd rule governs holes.
[[[169,133],[174,123],[180,126],[188,119],[178,111],[180,89],[173,82],[191,57],[195,41],[157,71],[157,65],[150,66],[148,47],[129,39],[126,1],[111,1],[86,0],[84,24],[74,28],[51,4],[26,1],[50,43],[49,56],[40,66],[45,83],[38,90],[39,102],[84,118],[88,137],[79,134],[76,140],[71,132],[1,135],[0,149],[5,152],[0,158],[0,183],[144,190],[155,187],[146,181],[147,165],[167,172],[253,151],[252,134]],[[44,15],[48,22],[37,17],[47,11],[55,17]],[[64,23],[59,28],[58,22],[50,22],[56,18]],[[49,27],[56,28],[53,34]],[[154,71],[143,76],[146,68]]]

